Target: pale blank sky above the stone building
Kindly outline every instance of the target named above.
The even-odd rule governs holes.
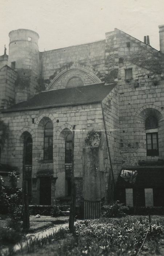
[[[8,33],[31,29],[39,50],[105,39],[115,27],[159,50],[158,25],[164,24],[164,0],[0,0],[0,55]]]

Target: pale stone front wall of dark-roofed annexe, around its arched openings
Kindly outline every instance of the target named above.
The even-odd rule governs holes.
[[[53,123],[53,161],[43,159],[43,131],[40,128],[43,118],[50,118]],[[34,118],[34,124],[32,123]],[[1,162],[9,163],[19,167],[22,174],[23,167],[23,140],[21,135],[28,131],[33,140],[33,161],[32,178],[35,180],[38,171],[51,172],[57,177],[56,196],[64,196],[65,193],[65,166],[63,165],[63,148],[60,146],[61,132],[63,129],[75,131],[75,178],[83,178],[83,145],[87,132],[92,129],[102,129],[102,112],[100,103],[86,104],[82,106],[67,106],[55,109],[41,109],[35,111],[4,113],[1,120],[9,125],[8,144],[4,151],[7,151],[8,158],[3,154]],[[56,122],[59,120],[59,123]],[[8,147],[8,145],[10,145]],[[83,180],[81,179],[81,182]],[[21,186],[21,176],[20,176]],[[36,191],[36,180],[33,185],[33,203],[39,203]],[[81,184],[82,185],[82,184]],[[80,188],[81,189],[81,188]],[[83,196],[83,195],[81,195]]]

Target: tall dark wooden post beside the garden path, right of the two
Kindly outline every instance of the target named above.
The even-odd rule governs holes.
[[[71,205],[69,213],[69,231],[74,232],[74,219],[76,210],[76,185],[74,179],[74,143],[75,143],[75,125],[73,125],[73,139],[72,139],[72,175],[71,175]]]

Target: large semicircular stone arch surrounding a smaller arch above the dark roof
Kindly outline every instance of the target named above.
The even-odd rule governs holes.
[[[75,76],[81,78],[84,85],[101,82],[100,78],[97,76],[97,73],[95,74],[91,67],[83,67],[77,63],[60,71],[52,79],[47,90],[66,88],[69,79]],[[59,82],[60,84],[58,84]]]

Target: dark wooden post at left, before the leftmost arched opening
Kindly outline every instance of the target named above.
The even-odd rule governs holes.
[[[22,207],[23,207],[23,230],[29,230],[29,203],[28,191],[25,180],[25,138],[24,138],[24,154],[23,154],[23,175],[22,175]]]

